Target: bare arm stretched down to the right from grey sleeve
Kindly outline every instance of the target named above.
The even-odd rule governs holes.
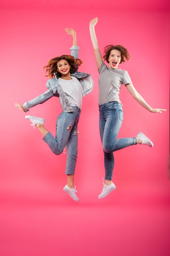
[[[148,103],[144,100],[143,97],[141,97],[141,95],[139,94],[139,92],[137,92],[137,90],[135,89],[135,87],[132,85],[132,83],[128,83],[126,84],[126,88],[128,89],[128,91],[130,92],[130,94],[132,95],[132,97],[139,103],[141,104],[141,106],[143,106],[144,108],[146,108],[147,110],[149,110],[152,113],[161,113],[162,111],[166,111],[166,109],[162,109],[162,108],[151,108]]]

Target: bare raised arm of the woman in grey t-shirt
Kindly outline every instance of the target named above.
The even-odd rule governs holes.
[[[90,35],[91,35],[93,49],[95,52],[95,60],[96,60],[97,68],[99,70],[102,65],[102,54],[100,52],[98,41],[97,41],[97,36],[95,33],[95,25],[97,24],[97,21],[98,21],[97,17],[94,18],[93,20],[91,20],[89,29],[90,29]]]

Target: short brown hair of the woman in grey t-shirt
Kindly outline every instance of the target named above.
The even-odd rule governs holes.
[[[126,49],[126,47],[124,47],[123,45],[107,45],[104,48],[104,53],[103,53],[103,58],[104,61],[107,61],[107,63],[109,63],[108,58],[110,56],[110,52],[111,50],[118,50],[119,52],[121,52],[121,61],[120,64],[122,62],[128,61],[130,58],[130,54],[128,52],[128,50]],[[125,60],[126,59],[126,60]]]

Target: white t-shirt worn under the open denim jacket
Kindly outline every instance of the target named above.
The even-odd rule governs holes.
[[[71,80],[59,78],[58,81],[66,94],[71,106],[82,108],[82,85],[77,78],[71,76]]]

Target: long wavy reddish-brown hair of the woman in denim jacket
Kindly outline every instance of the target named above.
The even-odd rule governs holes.
[[[49,76],[49,78],[54,77],[54,73],[56,73],[57,77],[61,77],[60,72],[57,71],[57,63],[58,61],[66,60],[70,65],[70,73],[73,74],[76,72],[77,68],[82,65],[82,61],[77,58],[75,59],[71,55],[62,55],[55,58],[52,58],[48,61],[47,65],[43,67],[44,72],[46,73],[45,76]]]

